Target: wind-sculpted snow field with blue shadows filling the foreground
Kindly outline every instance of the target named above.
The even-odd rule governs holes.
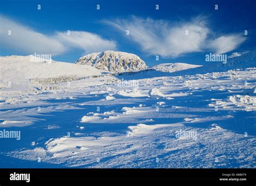
[[[200,68],[1,88],[0,166],[255,168],[256,68]]]

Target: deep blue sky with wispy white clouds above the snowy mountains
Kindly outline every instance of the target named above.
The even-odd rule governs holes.
[[[207,53],[255,48],[255,9],[255,0],[1,1],[0,55],[36,52],[74,62],[91,52],[114,50],[137,54],[148,66],[204,65]]]

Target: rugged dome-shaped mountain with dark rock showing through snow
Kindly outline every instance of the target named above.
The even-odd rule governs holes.
[[[105,51],[85,55],[76,61],[79,65],[91,65],[113,73],[139,71],[145,69],[146,63],[135,54]]]

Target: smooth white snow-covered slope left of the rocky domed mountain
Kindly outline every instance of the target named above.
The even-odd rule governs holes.
[[[31,60],[31,56],[0,57],[0,88],[28,88],[31,82],[68,82],[81,77],[99,76],[106,71],[89,65],[50,60]]]

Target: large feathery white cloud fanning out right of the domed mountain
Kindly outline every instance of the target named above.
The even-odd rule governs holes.
[[[225,53],[237,48],[245,38],[237,34],[208,39],[213,31],[207,27],[203,16],[190,22],[169,23],[166,20],[143,19],[132,16],[128,19],[104,20],[104,23],[117,28],[128,39],[137,43],[143,52],[161,55],[163,58],[177,57],[186,53],[210,50]],[[186,35],[188,31],[188,35]]]

